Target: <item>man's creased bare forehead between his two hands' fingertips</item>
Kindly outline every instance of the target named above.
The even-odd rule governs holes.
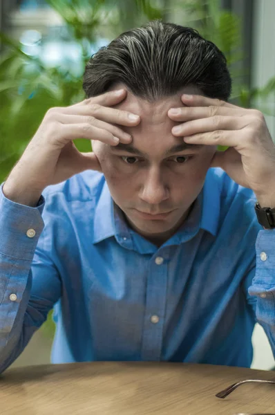
[[[124,85],[120,84],[113,86],[112,89],[120,89],[123,87]],[[115,105],[114,108],[130,111],[140,116],[140,124],[136,127],[119,126],[131,134],[133,137],[131,144],[134,147],[137,147],[140,151],[147,154],[151,151],[154,154],[158,152],[163,154],[166,149],[182,143],[182,138],[173,136],[171,132],[171,129],[175,125],[180,124],[180,122],[171,120],[167,115],[170,108],[185,107],[180,98],[182,93],[200,93],[200,91],[187,87],[173,96],[162,98],[155,102],[143,100],[127,91],[126,98]]]

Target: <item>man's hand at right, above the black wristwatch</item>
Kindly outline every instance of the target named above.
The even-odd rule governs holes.
[[[221,167],[236,183],[252,189],[261,207],[275,208],[275,146],[263,113],[202,95],[182,95],[182,102],[188,107],[168,113],[183,122],[177,131],[173,127],[173,135],[192,144],[229,147],[216,151],[210,167]]]

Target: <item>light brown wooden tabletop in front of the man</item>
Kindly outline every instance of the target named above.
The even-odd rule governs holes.
[[[82,362],[7,369],[0,376],[1,415],[275,414],[275,385],[246,383],[275,372],[169,362]]]

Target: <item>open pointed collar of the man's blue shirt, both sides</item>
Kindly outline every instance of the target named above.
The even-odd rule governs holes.
[[[178,245],[193,237],[198,230],[204,229],[216,236],[220,216],[220,188],[215,169],[209,169],[200,194],[193,204],[193,208],[186,221],[171,237],[171,243]],[[115,237],[117,242],[125,248],[133,249],[133,230],[126,224],[124,213],[113,202],[104,181],[99,201],[95,208],[93,224],[93,243]]]

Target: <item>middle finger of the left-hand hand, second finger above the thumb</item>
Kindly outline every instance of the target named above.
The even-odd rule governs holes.
[[[107,131],[112,133],[113,136],[120,138],[120,140],[122,142],[125,142],[126,144],[129,144],[129,142],[131,142],[132,140],[130,134],[125,133],[119,127],[115,127],[115,125],[108,124],[108,122],[97,120],[97,118],[93,116],[67,115],[64,113],[59,113],[57,115],[57,120],[62,124],[81,124],[82,122],[84,122],[86,124],[91,124],[99,129],[106,129]]]

